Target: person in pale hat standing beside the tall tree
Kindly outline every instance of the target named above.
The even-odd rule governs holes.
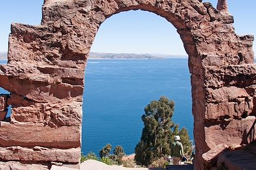
[[[182,143],[180,143],[180,136],[174,136],[174,142],[171,145],[171,156],[173,158],[173,165],[179,165],[183,155],[184,151]]]

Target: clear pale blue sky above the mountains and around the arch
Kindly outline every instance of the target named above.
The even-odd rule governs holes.
[[[217,0],[210,1],[216,6]],[[0,52],[8,50],[10,24],[38,25],[43,0],[0,1]],[[256,35],[256,1],[228,0],[237,34]],[[256,45],[253,46],[256,54]],[[185,54],[172,24],[147,11],[127,11],[108,18],[100,26],[92,52]]]

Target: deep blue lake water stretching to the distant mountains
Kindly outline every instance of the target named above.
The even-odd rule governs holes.
[[[0,63],[6,63],[1,61]],[[6,93],[0,89],[0,93]],[[166,96],[175,101],[173,121],[193,138],[188,59],[89,60],[83,103],[83,153],[110,143],[134,153],[140,141],[141,115],[150,101]]]

